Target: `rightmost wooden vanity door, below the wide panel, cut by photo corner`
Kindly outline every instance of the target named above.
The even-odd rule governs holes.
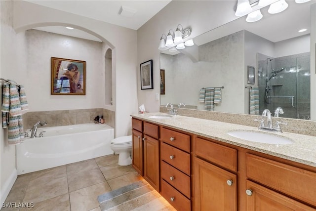
[[[254,182],[246,181],[247,211],[316,211]]]

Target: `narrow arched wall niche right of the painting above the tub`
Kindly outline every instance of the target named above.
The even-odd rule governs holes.
[[[112,93],[112,49],[108,48],[104,56],[104,68],[105,68],[105,104],[113,105],[113,93]]]

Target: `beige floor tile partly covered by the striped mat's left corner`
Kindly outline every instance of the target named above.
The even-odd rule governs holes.
[[[102,182],[70,193],[72,211],[89,211],[99,207],[98,196],[111,191],[107,182]]]

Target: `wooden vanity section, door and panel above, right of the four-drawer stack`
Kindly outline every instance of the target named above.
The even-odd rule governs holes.
[[[196,211],[237,211],[237,150],[194,139]]]

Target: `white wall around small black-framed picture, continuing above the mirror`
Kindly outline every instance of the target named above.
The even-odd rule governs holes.
[[[234,12],[236,3],[235,0],[173,0],[137,30],[137,91],[139,105],[145,104],[150,112],[159,111],[160,102],[155,100],[155,95],[160,93],[160,52],[158,44],[161,34],[166,34],[169,29],[175,31],[177,25],[181,24],[183,28],[192,28],[190,37],[194,38],[237,19]],[[150,59],[153,59],[154,89],[141,90],[139,64]]]

